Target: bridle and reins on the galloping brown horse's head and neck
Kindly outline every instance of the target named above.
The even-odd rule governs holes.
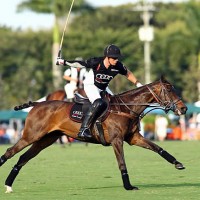
[[[129,110],[130,114],[124,113],[124,112],[121,112],[121,111],[113,111],[113,110],[111,110],[110,112],[116,113],[116,114],[119,114],[119,115],[126,115],[126,116],[129,115],[129,118],[134,118],[134,117],[143,118],[147,113],[149,113],[149,112],[151,112],[152,110],[155,110],[155,109],[164,110],[165,113],[168,113],[170,110],[175,112],[176,109],[177,109],[177,104],[178,104],[179,101],[181,101],[181,98],[178,98],[177,100],[174,101],[172,99],[172,97],[170,96],[170,91],[173,89],[173,86],[168,83],[168,85],[170,85],[170,91],[169,91],[165,86],[166,84],[163,84],[163,82],[160,80],[160,85],[161,85],[160,94],[156,94],[153,91],[153,89],[150,87],[150,85],[144,86],[144,87],[147,87],[147,89],[152,94],[152,96],[154,97],[154,99],[156,100],[157,103],[126,103],[122,100],[120,95],[117,95],[117,96],[115,96],[117,103],[111,103],[110,105],[125,106]],[[151,109],[148,110],[145,114],[144,113],[138,114],[137,112],[133,111],[130,108],[130,106],[148,106],[148,107],[151,107]]]

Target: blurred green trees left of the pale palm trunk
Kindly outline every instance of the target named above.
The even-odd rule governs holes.
[[[5,37],[6,35],[6,37]],[[0,29],[0,108],[36,100],[47,94],[51,83],[50,32]],[[19,45],[20,44],[20,45]]]

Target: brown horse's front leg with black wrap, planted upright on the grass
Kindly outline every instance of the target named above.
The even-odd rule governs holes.
[[[129,180],[128,171],[126,168],[126,163],[124,158],[123,140],[121,138],[115,138],[113,139],[111,144],[114,149],[115,156],[117,158],[119,170],[121,171],[124,188],[126,190],[138,190],[137,187],[131,185]]]

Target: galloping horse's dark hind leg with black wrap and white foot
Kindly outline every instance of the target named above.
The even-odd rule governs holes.
[[[21,168],[30,159],[38,155],[40,151],[53,144],[61,135],[62,133],[60,132],[59,133],[52,132],[51,134],[44,136],[39,141],[33,143],[33,145],[24,154],[20,156],[17,164],[13,167],[13,169],[11,170],[10,174],[8,175],[5,181],[5,185],[7,187],[6,193],[12,192],[12,184],[15,178],[17,177],[19,171],[21,170]]]

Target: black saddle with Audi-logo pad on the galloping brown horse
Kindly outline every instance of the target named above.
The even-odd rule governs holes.
[[[109,101],[108,101],[108,98],[106,97],[106,95],[104,97],[104,100],[106,100],[109,105]],[[90,106],[91,106],[91,103],[88,98],[83,97],[79,93],[75,93],[74,94],[74,104],[72,105],[72,107],[70,109],[70,119],[77,123],[82,123],[84,116],[87,113]],[[102,122],[105,121],[106,118],[108,117],[108,114],[109,114],[108,110],[109,110],[109,106],[108,106],[108,109],[105,110],[103,112],[103,114],[94,123],[94,127],[97,131],[97,134],[104,146],[108,146],[108,144],[106,143],[105,138],[104,138]]]

